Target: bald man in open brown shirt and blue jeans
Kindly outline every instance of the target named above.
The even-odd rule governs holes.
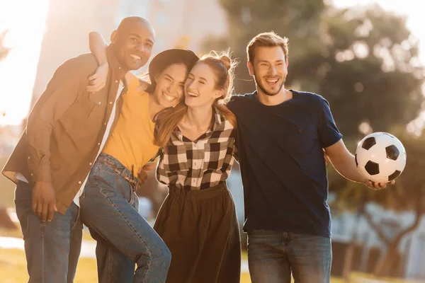
[[[92,54],[82,54],[55,71],[31,110],[2,171],[17,184],[29,282],[73,282],[82,234],[73,200],[119,117],[125,73],[147,63],[154,37],[144,18],[125,18],[111,34],[105,88],[86,91],[98,64]]]

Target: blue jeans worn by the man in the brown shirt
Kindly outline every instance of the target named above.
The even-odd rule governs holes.
[[[74,282],[81,250],[83,225],[74,202],[67,213],[42,222],[32,209],[32,186],[19,182],[15,190],[16,214],[23,233],[28,282]]]

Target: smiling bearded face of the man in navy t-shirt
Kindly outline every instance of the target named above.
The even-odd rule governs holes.
[[[280,46],[256,47],[254,62],[248,62],[249,74],[254,76],[258,91],[275,96],[283,90],[288,61]]]

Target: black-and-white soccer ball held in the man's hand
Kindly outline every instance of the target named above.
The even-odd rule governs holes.
[[[356,166],[363,177],[377,183],[395,180],[406,166],[406,150],[392,134],[375,132],[360,141]]]

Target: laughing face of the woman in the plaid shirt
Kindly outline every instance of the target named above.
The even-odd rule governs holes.
[[[203,62],[198,62],[191,69],[185,83],[184,102],[191,107],[212,106],[217,98],[223,96],[222,90],[216,88],[214,71]]]

